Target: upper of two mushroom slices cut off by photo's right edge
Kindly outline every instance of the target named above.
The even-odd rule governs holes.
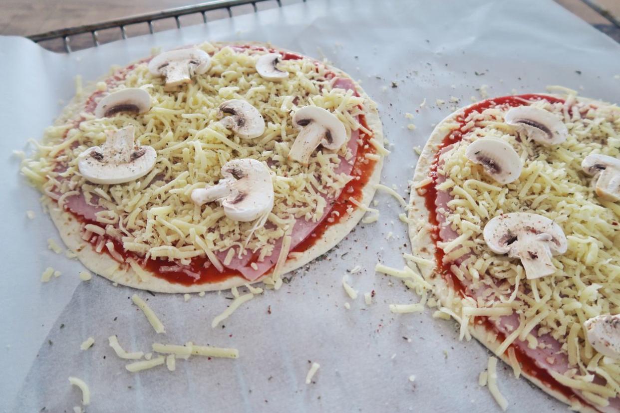
[[[596,194],[608,201],[620,201],[620,159],[607,155],[588,155],[582,162],[583,172],[596,179]]]

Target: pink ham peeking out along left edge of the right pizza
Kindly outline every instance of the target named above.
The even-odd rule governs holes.
[[[443,163],[443,155],[449,152],[452,149],[453,145],[449,145],[444,147],[439,152],[438,165],[441,166]],[[446,180],[444,175],[437,173],[437,178],[435,181],[435,186],[440,185]],[[448,202],[451,201],[453,197],[448,193],[448,191],[437,191],[437,197],[435,200],[435,207],[437,210],[437,221],[439,223],[439,238],[440,241],[451,241],[454,238],[458,237],[458,233],[453,230],[450,225],[446,224],[445,215],[440,213],[440,209],[443,208],[448,211]],[[454,262],[454,264],[459,265],[464,259],[467,258],[467,254]],[[467,290],[467,295],[472,298],[477,298],[483,295],[484,289],[475,290],[472,289],[471,282],[469,280],[464,279],[463,285]],[[490,321],[490,320],[489,320]],[[515,328],[519,326],[519,318],[518,315],[513,314],[510,316],[502,316],[498,319],[498,321],[493,321],[496,331],[503,333],[505,336],[510,335]],[[515,346],[518,350],[520,350],[523,354],[527,355],[527,357],[534,362],[536,367],[541,368],[542,370],[554,371],[560,374],[563,374],[569,370],[569,359],[567,355],[560,353],[560,347],[562,345],[559,341],[554,339],[549,334],[538,335],[538,330],[534,329],[531,334],[536,337],[539,344],[544,344],[546,348],[541,349],[536,347],[535,349],[530,349],[528,347],[528,342],[520,341],[516,339],[513,342],[513,346]],[[595,383],[604,384],[604,380],[600,377],[595,378]],[[583,396],[579,392],[575,392],[575,395],[582,399],[588,405],[590,402],[587,399],[583,398]],[[601,411],[620,411],[620,398],[616,397],[614,399],[609,399],[609,406],[607,408],[601,409]]]

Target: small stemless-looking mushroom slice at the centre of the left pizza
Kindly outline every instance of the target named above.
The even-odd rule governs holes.
[[[265,131],[265,120],[257,108],[245,100],[231,99],[219,105],[221,124],[243,139],[259,137]]]

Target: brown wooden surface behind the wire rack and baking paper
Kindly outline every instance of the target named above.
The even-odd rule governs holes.
[[[206,1],[206,0],[203,0]],[[282,4],[294,4],[301,0],[282,0]],[[518,1],[518,0],[515,0]],[[594,25],[602,32],[620,41],[620,28],[615,27],[608,19],[585,4],[583,0],[556,0],[569,11],[583,20]],[[590,0],[598,4],[604,11],[620,20],[620,0]],[[174,7],[195,4],[189,0],[1,0],[0,35],[27,36],[36,33],[49,32],[65,27],[74,27],[84,24],[95,24],[105,20],[114,20],[128,15],[156,12]],[[269,0],[257,4],[259,10],[277,7],[276,0]],[[234,15],[252,12],[252,6],[238,6],[232,9]],[[226,11],[208,12],[208,19],[222,19],[228,17]],[[182,25],[202,24],[200,14],[182,17]],[[175,27],[174,19],[159,20],[154,23],[155,30],[167,30]],[[129,36],[148,33],[148,26],[134,25],[127,27]],[[118,40],[120,30],[109,29],[99,33],[102,43]],[[61,41],[42,43],[50,50],[62,51]],[[82,35],[72,38],[71,46],[74,49],[92,46],[91,35]]]

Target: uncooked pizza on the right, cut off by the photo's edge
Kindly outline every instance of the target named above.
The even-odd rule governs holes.
[[[411,186],[406,258],[438,311],[580,411],[620,409],[619,147],[608,103],[491,98],[436,126]]]

